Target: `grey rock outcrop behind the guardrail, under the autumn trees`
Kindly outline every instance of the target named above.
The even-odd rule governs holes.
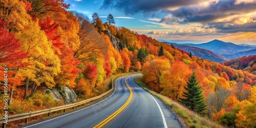
[[[61,90],[47,89],[44,91],[44,93],[51,94],[55,100],[63,101],[65,104],[74,103],[74,101],[77,100],[75,91],[68,87],[64,87]]]

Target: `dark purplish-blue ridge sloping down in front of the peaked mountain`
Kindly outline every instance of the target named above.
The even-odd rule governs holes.
[[[225,62],[228,59],[222,55],[219,55],[217,53],[211,52],[209,50],[206,49],[201,49],[201,48],[197,48],[197,47],[191,47],[191,46],[187,46],[187,45],[178,45],[178,44],[173,44],[175,47],[177,47],[178,49],[182,49],[188,53],[191,52],[191,54],[193,56],[197,56],[197,57],[201,57],[204,59],[208,59],[210,61],[214,61],[214,62]]]

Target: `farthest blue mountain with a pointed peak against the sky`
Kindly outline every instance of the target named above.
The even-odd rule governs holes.
[[[203,44],[180,44],[180,45],[187,45],[187,46],[207,49],[207,50],[210,50],[210,51],[215,52],[220,55],[233,54],[233,53],[237,53],[237,52],[255,49],[253,47],[239,46],[239,45],[233,44],[231,42],[224,42],[224,41],[221,41],[218,39],[215,39],[215,40],[203,43]]]

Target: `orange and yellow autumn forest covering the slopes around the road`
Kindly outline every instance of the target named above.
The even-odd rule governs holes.
[[[43,89],[67,86],[81,99],[97,96],[109,89],[104,80],[121,72],[142,71],[143,81],[152,90],[178,101],[185,98],[184,86],[195,73],[206,104],[202,116],[228,126],[255,126],[255,75],[189,56],[174,46],[116,27],[113,20],[103,23],[96,13],[90,21],[84,14],[67,11],[69,5],[63,2],[0,2],[0,74],[8,68],[10,114],[63,104],[42,94]],[[0,77],[1,95],[4,79]]]

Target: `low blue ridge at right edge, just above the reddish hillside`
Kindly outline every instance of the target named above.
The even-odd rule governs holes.
[[[234,54],[225,54],[223,56],[225,56],[228,59],[234,59],[234,58],[249,56],[249,55],[256,55],[256,49],[249,50],[249,51],[243,51],[243,52],[237,52]]]

